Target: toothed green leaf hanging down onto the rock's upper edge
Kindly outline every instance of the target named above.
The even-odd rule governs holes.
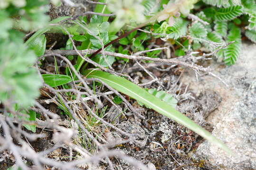
[[[237,26],[233,28],[228,33],[228,42],[235,41],[234,43],[228,45],[224,50],[224,62],[226,65],[230,66],[235,64],[237,58],[239,57],[241,50],[241,31]]]

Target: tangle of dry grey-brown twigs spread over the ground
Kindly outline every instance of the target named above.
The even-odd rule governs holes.
[[[95,3],[91,0],[86,0],[87,2],[90,3]],[[76,6],[77,4],[73,4],[72,1],[70,0],[64,0],[67,4],[71,6]],[[79,5],[79,4],[78,4]],[[86,12],[83,15],[86,14],[94,14],[94,15],[103,15],[103,14],[98,14],[94,12]],[[104,15],[106,16],[106,15]],[[111,15],[107,15],[111,16]],[[192,19],[199,19],[198,17],[189,16]],[[72,17],[70,19],[65,20],[66,21],[71,21],[74,20],[76,22],[76,18]],[[202,22],[201,20],[199,20]],[[62,21],[63,22],[63,21]],[[76,22],[81,28],[85,29],[86,32],[90,33],[90,30],[85,26],[82,25],[79,22]],[[61,23],[58,23],[61,24]],[[207,24],[207,23],[204,23]],[[62,28],[66,31],[68,34],[70,40],[72,40],[72,35],[68,33],[66,28],[62,26]],[[141,30],[141,29],[139,29]],[[141,30],[143,31],[143,30]],[[145,31],[144,31],[145,32]],[[134,53],[133,55],[124,55],[121,53],[115,53],[115,52],[109,52],[109,51],[104,51],[104,45],[102,40],[98,37],[95,36],[96,39],[98,39],[102,43],[102,51],[100,53],[103,55],[104,59],[106,59],[106,55],[114,56],[114,57],[120,57],[120,58],[125,58],[125,59],[131,59],[135,61],[134,69],[141,69],[145,71],[149,76],[152,77],[152,81],[145,83],[145,84],[140,84],[141,86],[144,85],[150,85],[154,82],[158,82],[158,78],[154,76],[149,69],[150,68],[158,68],[163,65],[166,65],[170,68],[173,68],[177,65],[181,65],[186,68],[191,68],[195,70],[195,73],[198,75],[199,72],[206,72],[210,75],[214,75],[211,73],[210,68],[204,68],[202,66],[199,66],[196,64],[196,62],[199,59],[206,59],[207,56],[210,56],[214,54],[215,52],[219,51],[222,48],[225,48],[229,43],[225,44],[216,44],[214,43],[213,45],[216,48],[215,51],[209,53],[209,54],[203,54],[202,56],[195,57],[195,54],[198,54],[198,52],[193,52],[193,51],[188,51],[185,56],[175,58],[175,59],[161,59],[161,58],[149,58],[146,56],[143,56],[142,54],[148,52],[148,51],[154,51],[154,50],[168,50],[168,48],[163,47],[163,48],[155,48],[155,49],[150,49],[147,51],[140,51],[137,53]],[[209,42],[213,43],[213,42]],[[119,109],[114,102],[112,102],[112,94],[116,94],[119,96],[122,100],[123,103],[127,106],[127,108],[133,113],[133,116],[135,118],[135,123],[139,123],[137,120],[138,119],[144,119],[144,116],[137,110],[135,109],[130,102],[128,102],[125,97],[123,97],[122,94],[114,90],[112,87],[106,85],[104,82],[102,82],[99,79],[87,79],[84,76],[80,75],[79,72],[76,71],[76,68],[72,65],[70,60],[68,60],[65,56],[67,55],[77,55],[80,56],[82,59],[85,60],[85,62],[88,62],[95,66],[96,68],[99,68],[103,71],[118,75],[118,76],[125,76],[127,77],[130,81],[133,83],[136,83],[135,80],[131,78],[128,74],[123,74],[120,73],[119,71],[115,71],[114,68],[112,68],[110,65],[108,68],[104,68],[92,59],[89,59],[88,57],[85,57],[88,54],[93,54],[97,50],[93,49],[87,49],[87,50],[77,50],[76,49],[76,44],[72,40],[72,44],[75,50],[47,50],[43,56],[41,56],[38,60],[44,59],[46,57],[56,57],[62,61],[64,61],[68,67],[75,73],[76,77],[78,78],[78,81],[70,83],[70,85],[73,87],[72,89],[56,89],[52,88],[46,84],[44,84],[44,87],[49,90],[50,93],[53,94],[53,96],[50,96],[50,99],[38,99],[37,102],[35,103],[34,107],[31,107],[31,110],[35,110],[36,112],[41,114],[41,117],[43,117],[44,120],[39,120],[37,119],[36,121],[25,121],[25,120],[20,120],[19,111],[15,111],[12,109],[12,104],[13,101],[8,101],[2,103],[3,109],[0,110],[0,127],[3,131],[3,135],[0,136],[0,151],[7,150],[9,153],[11,153],[16,160],[16,165],[17,167],[19,166],[22,168],[22,170],[29,170],[31,167],[28,167],[25,163],[25,160],[31,160],[33,164],[36,166],[36,169],[44,169],[45,166],[51,166],[51,167],[57,167],[60,168],[61,170],[73,170],[76,169],[77,167],[82,167],[84,165],[88,169],[93,169],[97,168],[99,166],[99,162],[108,164],[109,169],[114,170],[114,165],[111,161],[111,157],[118,157],[120,159],[123,159],[124,161],[127,161],[131,165],[138,167],[142,170],[147,170],[148,168],[143,165],[140,161],[136,161],[133,158],[130,158],[126,156],[124,153],[117,151],[115,149],[112,149],[113,146],[117,144],[123,144],[123,143],[134,143],[142,146],[145,144],[145,142],[142,142],[144,136],[139,136],[139,135],[134,135],[127,133],[117,127],[115,127],[112,123],[109,123],[103,118],[100,118],[96,113],[95,110],[92,109],[91,105],[88,104],[87,101],[92,101],[98,108],[102,108],[104,106],[102,99],[106,99],[108,102],[111,102],[111,104]],[[149,60],[149,61],[155,61],[155,63],[150,63],[150,64],[141,64],[142,60]],[[41,73],[48,73],[46,70],[43,70],[38,67],[38,64],[35,65],[36,68],[38,68],[38,74],[41,76]],[[169,68],[169,69],[170,69]],[[133,68],[128,68],[126,69],[126,73],[133,72]],[[161,68],[159,68],[161,69]],[[130,71],[129,71],[130,70]],[[100,89],[96,89],[96,92],[93,92],[91,88],[89,87],[93,81],[98,81],[101,82],[102,85],[105,88],[109,89],[109,92],[102,93]],[[76,95],[76,100],[72,101],[69,100],[66,96],[66,93],[72,93]],[[82,94],[85,94],[86,97],[81,97]],[[96,149],[95,152],[92,153],[89,150],[86,150],[79,144],[75,144],[74,140],[79,137],[77,136],[78,130],[75,127],[68,127],[68,126],[62,126],[63,123],[61,122],[62,120],[60,119],[60,116],[56,113],[53,113],[49,110],[47,110],[43,105],[49,104],[49,103],[55,103],[59,105],[59,103],[63,103],[63,105],[66,107],[68,112],[71,114],[72,118],[75,120],[77,126],[81,129],[82,133],[86,136],[88,140],[93,141],[93,144],[95,145]],[[91,129],[89,130],[85,119],[83,119],[80,115],[80,112],[85,111],[86,113],[89,113],[92,117],[98,120],[98,122],[101,122],[105,129],[104,135],[103,136],[98,136],[94,131]],[[8,116],[8,113],[11,113],[14,115],[13,118],[10,118]],[[124,113],[129,115],[129,113]],[[29,144],[30,141],[37,140],[38,138],[43,138],[45,137],[42,134],[31,134],[22,128],[23,124],[30,124],[30,125],[37,125],[38,128],[41,129],[52,129],[53,130],[53,137],[52,137],[52,147],[41,152],[36,152],[31,145]],[[104,129],[102,129],[104,130]],[[126,137],[125,140],[122,140],[122,138],[114,137],[111,133],[111,131],[117,131],[123,136]],[[18,143],[18,144],[17,144]],[[56,161],[54,159],[50,159],[47,157],[48,154],[54,152],[58,148],[67,148],[70,151],[69,159],[68,161]],[[74,159],[73,156],[75,154],[80,155],[80,159]]]

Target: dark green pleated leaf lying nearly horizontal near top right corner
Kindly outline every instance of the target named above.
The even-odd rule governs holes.
[[[241,6],[230,6],[228,8],[219,8],[215,12],[215,18],[218,21],[230,21],[243,13]]]

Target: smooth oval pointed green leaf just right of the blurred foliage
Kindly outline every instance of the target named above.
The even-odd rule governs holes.
[[[72,81],[72,78],[66,75],[43,74],[42,77],[45,83],[51,87],[65,85]]]

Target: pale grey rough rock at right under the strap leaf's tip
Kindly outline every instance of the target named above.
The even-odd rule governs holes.
[[[220,68],[216,64],[214,73],[217,72],[228,87],[211,76],[200,77],[198,82],[191,82],[191,77],[182,80],[190,80],[190,88],[196,94],[212,89],[222,98],[208,121],[215,127],[212,134],[226,143],[237,157],[227,155],[208,141],[200,144],[196,153],[199,159],[208,160],[220,170],[256,169],[256,45],[244,43],[242,50],[235,65]]]

